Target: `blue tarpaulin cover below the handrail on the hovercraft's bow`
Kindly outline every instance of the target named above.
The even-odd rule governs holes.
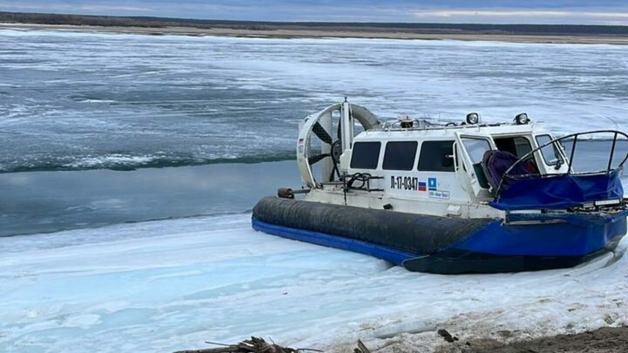
[[[507,177],[507,188],[490,202],[500,210],[566,209],[582,204],[624,198],[620,170],[591,175]]]

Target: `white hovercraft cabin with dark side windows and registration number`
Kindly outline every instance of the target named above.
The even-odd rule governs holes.
[[[374,187],[389,197],[455,204],[490,201],[498,186],[491,185],[482,165],[487,151],[522,158],[553,139],[534,124],[365,131],[355,137],[344,159],[349,163],[341,163],[340,170],[383,176]],[[555,144],[530,155],[525,166],[531,174],[565,173],[565,160]]]

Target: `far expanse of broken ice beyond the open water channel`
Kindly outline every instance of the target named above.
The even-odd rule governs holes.
[[[628,46],[0,30],[0,171],[293,158],[345,95],[385,119],[628,129]]]

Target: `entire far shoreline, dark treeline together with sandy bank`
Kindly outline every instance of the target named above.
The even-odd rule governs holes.
[[[374,38],[628,45],[628,26],[597,24],[277,22],[0,12],[2,28],[246,38]]]

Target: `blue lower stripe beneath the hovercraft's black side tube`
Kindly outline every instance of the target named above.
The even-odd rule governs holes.
[[[416,258],[416,254],[406,253],[390,247],[379,246],[345,237],[332,236],[330,234],[320,232],[305,231],[304,229],[295,229],[291,227],[284,227],[282,225],[269,224],[257,219],[252,220],[252,226],[256,231],[288,239],[311,242],[322,246],[354,251],[355,253],[374,256],[375,258],[386,260],[400,266],[403,264],[403,261]]]

